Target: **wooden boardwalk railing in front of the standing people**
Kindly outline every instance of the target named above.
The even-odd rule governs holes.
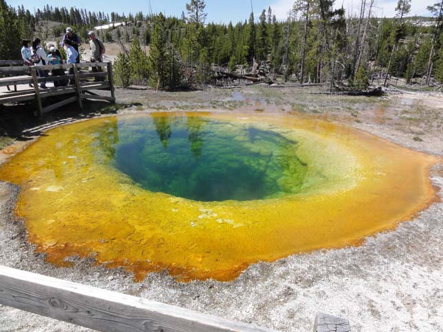
[[[82,99],[106,100],[115,102],[113,70],[111,62],[81,62],[80,64],[56,64],[46,66],[15,66],[18,60],[0,61],[0,88],[6,86],[8,91],[0,90],[0,104],[34,101],[36,103],[35,115],[42,116],[71,102],[78,102],[82,108]],[[3,67],[2,67],[3,66]],[[9,66],[9,67],[6,67]],[[82,71],[84,68],[100,67],[104,71],[90,73]],[[52,72],[55,69],[68,70],[68,75],[49,75],[47,78],[38,77],[38,71]],[[93,79],[93,81],[91,81]],[[72,85],[58,86],[41,89],[38,84],[42,82],[59,82],[71,80]],[[33,84],[30,88],[29,84]],[[14,86],[11,91],[9,86]],[[17,88],[19,86],[19,88]],[[93,93],[91,90],[108,90],[111,96]],[[44,99],[54,96],[65,96],[65,99],[52,105],[44,105]],[[70,95],[70,96],[69,96]]]

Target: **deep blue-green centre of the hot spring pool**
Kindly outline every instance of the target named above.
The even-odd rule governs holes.
[[[296,193],[306,174],[296,141],[254,126],[164,116],[122,119],[117,130],[120,141],[109,146],[115,167],[154,192],[257,200]],[[105,146],[98,148],[109,150]]]

